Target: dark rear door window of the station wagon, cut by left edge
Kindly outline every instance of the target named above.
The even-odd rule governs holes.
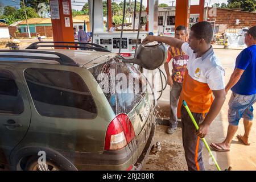
[[[23,100],[13,74],[0,69],[0,114],[21,114],[23,111]]]

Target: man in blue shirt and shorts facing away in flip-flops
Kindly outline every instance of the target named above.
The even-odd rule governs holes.
[[[229,127],[226,139],[222,143],[211,143],[216,151],[229,151],[230,143],[237,132],[238,123],[243,118],[245,134],[237,135],[238,140],[249,145],[249,134],[253,126],[253,104],[256,102],[256,26],[244,29],[247,46],[236,60],[236,68],[226,85],[226,93],[232,90],[229,100]]]

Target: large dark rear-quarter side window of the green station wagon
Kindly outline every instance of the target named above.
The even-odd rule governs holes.
[[[92,95],[74,72],[29,68],[24,72],[28,89],[40,115],[91,119],[97,114]]]

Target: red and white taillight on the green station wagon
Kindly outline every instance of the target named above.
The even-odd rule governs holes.
[[[119,150],[130,143],[135,132],[126,114],[119,114],[110,122],[106,131],[105,150]]]

